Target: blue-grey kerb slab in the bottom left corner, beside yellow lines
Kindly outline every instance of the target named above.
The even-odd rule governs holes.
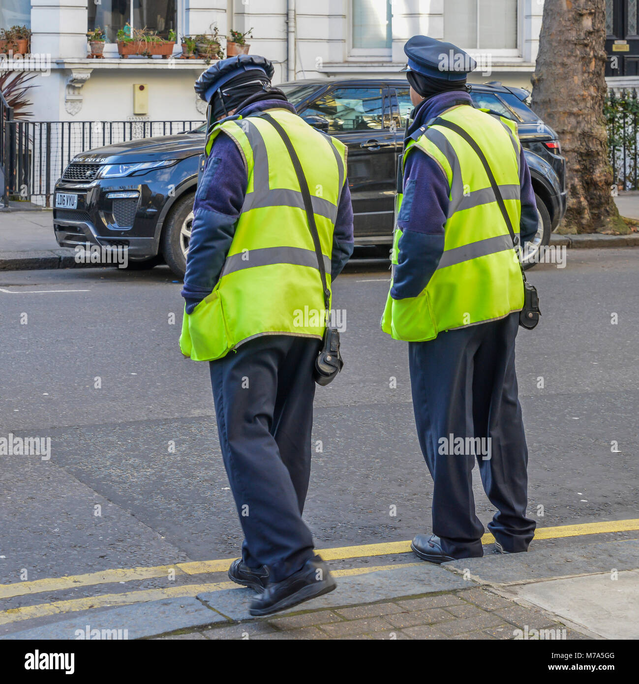
[[[187,627],[227,622],[190,596],[137,603],[109,610],[87,610],[68,620],[25,629],[2,637],[26,639],[141,639]],[[94,630],[99,630],[98,633]],[[80,631],[80,632],[78,632]],[[88,636],[87,636],[88,634]]]

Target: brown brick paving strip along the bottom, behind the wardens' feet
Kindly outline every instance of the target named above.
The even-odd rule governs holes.
[[[202,639],[590,639],[547,611],[483,588],[334,609],[301,611],[252,622],[159,637]]]

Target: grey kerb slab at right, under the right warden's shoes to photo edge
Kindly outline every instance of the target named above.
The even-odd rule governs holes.
[[[639,568],[639,540],[546,548],[528,553],[495,553],[482,558],[464,558],[445,563],[458,573],[470,571],[471,577],[491,584],[529,582],[552,577],[610,573]]]

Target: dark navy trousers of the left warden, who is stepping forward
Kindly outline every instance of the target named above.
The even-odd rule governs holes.
[[[319,340],[264,335],[210,362],[224,466],[244,532],[242,556],[272,581],[313,557],[302,511],[311,464]]]

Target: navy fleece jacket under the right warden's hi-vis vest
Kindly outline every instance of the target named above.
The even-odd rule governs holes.
[[[443,92],[429,98],[418,108],[408,135],[455,105],[472,106],[470,95],[467,92]],[[523,247],[537,230],[537,208],[523,147],[519,158],[519,184],[519,235]],[[408,155],[404,168],[404,198],[398,216],[398,226],[403,235],[398,244],[398,265],[390,291],[393,299],[416,297],[435,273],[444,253],[449,192],[448,179],[434,159],[419,151]]]

